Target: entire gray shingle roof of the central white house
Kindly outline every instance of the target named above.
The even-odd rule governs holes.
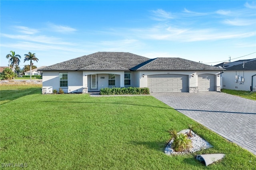
[[[42,71],[68,70],[224,70],[180,58],[148,59],[124,52],[97,52],[47,66]]]

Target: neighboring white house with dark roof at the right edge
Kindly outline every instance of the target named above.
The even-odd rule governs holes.
[[[255,91],[256,59],[221,63],[216,66],[226,69],[226,71],[221,74],[222,88]]]

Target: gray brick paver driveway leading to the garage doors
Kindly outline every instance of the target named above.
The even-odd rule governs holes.
[[[152,96],[256,155],[256,101],[220,92]]]

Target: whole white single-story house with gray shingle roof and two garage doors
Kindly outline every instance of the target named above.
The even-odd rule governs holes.
[[[180,58],[148,59],[124,52],[98,52],[40,69],[42,93],[62,88],[98,92],[105,87],[148,87],[150,92],[220,91],[222,68]]]

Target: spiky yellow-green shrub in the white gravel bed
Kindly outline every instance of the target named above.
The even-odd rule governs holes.
[[[172,148],[176,152],[182,152],[192,147],[191,140],[188,139],[188,136],[186,134],[183,134],[183,133],[178,134],[176,130],[171,130],[169,132],[172,138],[174,138],[172,143]]]

